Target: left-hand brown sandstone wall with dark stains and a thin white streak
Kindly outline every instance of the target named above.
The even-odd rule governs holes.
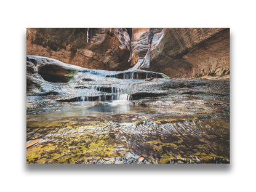
[[[102,70],[121,70],[130,62],[126,28],[28,28],[26,33],[27,55]]]

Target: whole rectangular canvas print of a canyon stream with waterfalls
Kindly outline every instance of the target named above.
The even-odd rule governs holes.
[[[26,163],[230,163],[230,29],[27,28]]]

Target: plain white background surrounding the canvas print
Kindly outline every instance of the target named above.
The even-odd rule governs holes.
[[[255,189],[254,1],[2,1],[1,191]],[[26,27],[231,28],[231,165],[26,166]]]

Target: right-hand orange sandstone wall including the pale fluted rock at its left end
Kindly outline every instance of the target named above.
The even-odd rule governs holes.
[[[225,76],[230,74],[230,30],[151,28],[132,45],[131,66],[171,78]]]

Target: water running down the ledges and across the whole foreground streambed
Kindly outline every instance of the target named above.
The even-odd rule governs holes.
[[[44,87],[59,94],[28,96],[27,142],[42,140],[27,149],[27,162],[230,161],[229,81],[134,74],[79,72]]]

